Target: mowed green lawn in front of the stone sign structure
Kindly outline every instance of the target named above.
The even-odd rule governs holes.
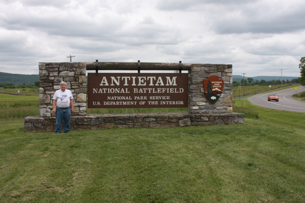
[[[0,121],[1,202],[305,202],[305,114],[245,124],[24,133]]]

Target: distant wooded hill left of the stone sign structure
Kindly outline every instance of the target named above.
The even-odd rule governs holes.
[[[35,81],[39,81],[39,75],[22,75],[0,72],[0,83],[13,83],[14,85],[34,84]]]

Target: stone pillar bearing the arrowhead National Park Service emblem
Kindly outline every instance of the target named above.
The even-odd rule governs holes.
[[[216,103],[211,103],[204,93],[203,79],[211,75],[224,81],[223,91]],[[192,64],[189,71],[188,112],[193,114],[232,113],[232,65]]]

